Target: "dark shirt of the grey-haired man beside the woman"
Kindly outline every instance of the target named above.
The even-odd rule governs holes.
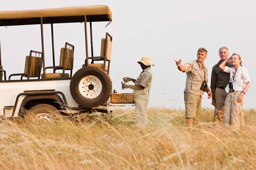
[[[228,82],[230,81],[230,73],[223,72],[220,67],[221,64],[219,61],[217,64],[212,67],[211,72],[211,89],[216,89],[216,87],[220,87],[221,89],[225,89]],[[233,67],[231,64],[226,64],[227,67]]]

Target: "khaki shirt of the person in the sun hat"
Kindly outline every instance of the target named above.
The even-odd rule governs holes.
[[[140,100],[150,100],[150,87],[152,83],[152,72],[151,68],[148,67],[138,76],[135,81],[135,85],[141,85],[145,88],[141,90],[134,90],[134,98]]]

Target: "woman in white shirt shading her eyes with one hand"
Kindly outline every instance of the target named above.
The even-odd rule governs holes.
[[[228,60],[231,61],[233,67],[225,66]],[[242,59],[236,53],[228,57],[219,66],[224,72],[230,73],[230,82],[226,87],[228,92],[225,107],[223,111],[223,123],[231,124],[234,127],[240,127],[240,109],[243,104],[243,96],[246,94],[250,86],[250,78],[248,70],[242,67]]]

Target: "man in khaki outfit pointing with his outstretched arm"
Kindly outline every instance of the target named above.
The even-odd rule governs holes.
[[[186,124],[190,127],[194,125],[194,119],[200,112],[201,98],[204,91],[207,92],[208,98],[212,96],[207,86],[208,70],[204,64],[206,57],[207,50],[201,47],[198,49],[195,61],[189,61],[182,65],[181,59],[175,60],[178,69],[186,73],[186,86],[184,90],[185,118]]]

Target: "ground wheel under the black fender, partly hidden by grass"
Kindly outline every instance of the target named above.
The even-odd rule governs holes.
[[[34,117],[36,120],[47,120],[50,122],[52,119],[55,119],[56,115],[60,112],[54,106],[39,104],[31,107],[28,113],[30,113],[30,116]]]

